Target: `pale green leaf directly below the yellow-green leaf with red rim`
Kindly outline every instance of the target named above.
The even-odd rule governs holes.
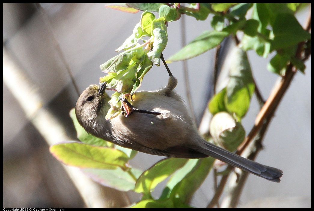
[[[122,170],[121,168],[82,169],[82,171],[101,185],[115,188],[119,191],[133,190],[136,182],[134,179],[138,178],[142,174],[141,170],[134,168],[130,168],[128,170]]]

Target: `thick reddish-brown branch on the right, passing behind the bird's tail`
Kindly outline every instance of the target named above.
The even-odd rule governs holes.
[[[311,24],[311,13],[308,15],[306,20],[305,29],[310,29]],[[304,52],[304,42],[298,44],[296,57],[302,57]],[[304,52],[304,54],[307,54]],[[310,55],[305,55],[305,58],[308,58]],[[288,90],[297,68],[295,68],[291,63],[286,67],[286,74],[281,78],[280,83],[275,86],[273,92],[268,97],[264,106],[260,110],[259,114],[256,117],[255,125],[252,128],[251,132],[245,139],[245,143],[238,149],[238,154],[244,154],[244,157],[248,157],[251,160],[254,160],[257,154],[260,152],[262,147],[263,137],[267,131],[267,128],[274,116],[276,109],[279,106],[281,99]],[[246,147],[247,146],[247,147]],[[245,153],[242,153],[245,152]],[[228,195],[225,197],[222,207],[236,207],[239,198],[241,196],[242,189],[244,187],[246,178],[248,176],[247,172],[240,171],[238,175],[235,173],[232,174],[232,178],[229,181],[229,184],[226,188],[230,190]]]

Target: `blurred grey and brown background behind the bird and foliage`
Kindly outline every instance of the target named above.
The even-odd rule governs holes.
[[[301,25],[308,12],[306,8],[297,14]],[[104,76],[99,65],[117,55],[115,49],[131,35],[141,14],[141,11],[129,14],[105,8],[103,3],[3,3],[3,66],[10,61],[20,70],[11,79],[5,68],[3,70],[3,207],[86,207],[62,164],[50,154],[51,143],[47,143],[30,122],[36,114],[24,112],[23,105],[35,100],[25,96],[23,89],[14,93],[14,84],[20,87],[18,84],[28,81],[41,101],[39,107],[50,111],[60,122],[65,128],[65,137],[76,140],[69,117],[78,99],[73,82],[79,93],[90,84],[98,84],[99,77]],[[165,59],[182,47],[181,21],[168,24]],[[186,16],[185,23],[187,43],[211,29],[210,17],[197,21]],[[214,55],[215,49],[187,61],[198,123],[211,94]],[[278,79],[266,68],[272,55],[265,60],[249,51],[248,57],[256,83],[267,99]],[[228,68],[228,65],[226,55],[222,67]],[[187,101],[183,62],[170,63],[169,68],[179,81],[176,91]],[[167,81],[168,73],[163,65],[155,66],[145,75],[140,90],[159,89]],[[252,128],[258,111],[254,96],[243,119],[246,132]],[[280,102],[263,145],[264,150],[256,161],[280,168],[284,175],[280,183],[250,175],[239,207],[311,207],[311,57],[306,62],[305,74],[295,75]],[[131,165],[146,170],[162,158],[138,153]],[[161,190],[162,184],[157,186],[153,196],[159,197]],[[103,191],[116,193],[110,188]],[[139,194],[126,194],[130,201],[114,206],[126,206],[140,199]],[[206,207],[213,195],[213,176],[210,175],[191,204]]]

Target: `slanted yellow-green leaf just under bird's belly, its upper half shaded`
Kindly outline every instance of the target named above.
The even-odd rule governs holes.
[[[187,160],[182,158],[165,158],[158,161],[138,178],[134,191],[149,195],[151,190],[185,165]]]

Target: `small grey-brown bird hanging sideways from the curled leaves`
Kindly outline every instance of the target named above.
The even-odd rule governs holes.
[[[78,98],[75,113],[78,122],[92,135],[140,152],[176,158],[214,157],[244,171],[279,182],[282,171],[259,164],[204,140],[192,123],[181,97],[173,90],[177,79],[172,75],[165,88],[136,92],[127,102],[131,113],[111,120],[106,84],[90,85]],[[142,110],[139,110],[142,109]],[[147,112],[146,112],[147,111]]]

